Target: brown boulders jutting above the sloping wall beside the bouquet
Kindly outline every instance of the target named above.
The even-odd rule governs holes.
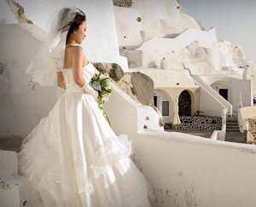
[[[103,75],[113,80],[113,83],[130,95],[134,101],[143,105],[153,106],[154,82],[142,72],[123,72],[116,63],[99,63],[93,65]]]

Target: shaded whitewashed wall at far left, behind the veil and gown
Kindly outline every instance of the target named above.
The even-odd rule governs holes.
[[[56,101],[56,87],[25,73],[46,33],[28,24],[0,25],[0,135],[27,135]]]

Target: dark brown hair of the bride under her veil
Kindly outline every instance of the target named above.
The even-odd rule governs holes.
[[[70,10],[68,8],[65,8],[67,10]],[[64,9],[64,10],[65,10]],[[76,8],[78,9],[78,8]],[[75,15],[75,18],[68,22],[65,26],[62,26],[61,28],[59,28],[59,31],[61,32],[65,32],[68,30],[67,32],[67,39],[70,36],[70,34],[74,31],[79,29],[79,26],[83,23],[84,20],[86,20],[86,15],[84,14],[84,12],[81,9],[78,9],[79,11],[77,12],[77,14]],[[63,11],[64,13],[67,11]],[[67,43],[67,39],[66,39],[66,43]]]

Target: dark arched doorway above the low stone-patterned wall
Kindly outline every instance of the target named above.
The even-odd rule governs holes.
[[[191,116],[191,96],[187,90],[178,96],[178,115]]]

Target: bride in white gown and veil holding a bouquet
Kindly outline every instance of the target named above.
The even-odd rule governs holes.
[[[77,44],[86,37],[78,8],[52,15],[49,35],[27,73],[65,89],[47,117],[22,141],[19,173],[44,206],[151,206],[154,190],[130,158],[127,135],[115,135],[97,106],[90,78],[98,73]]]

